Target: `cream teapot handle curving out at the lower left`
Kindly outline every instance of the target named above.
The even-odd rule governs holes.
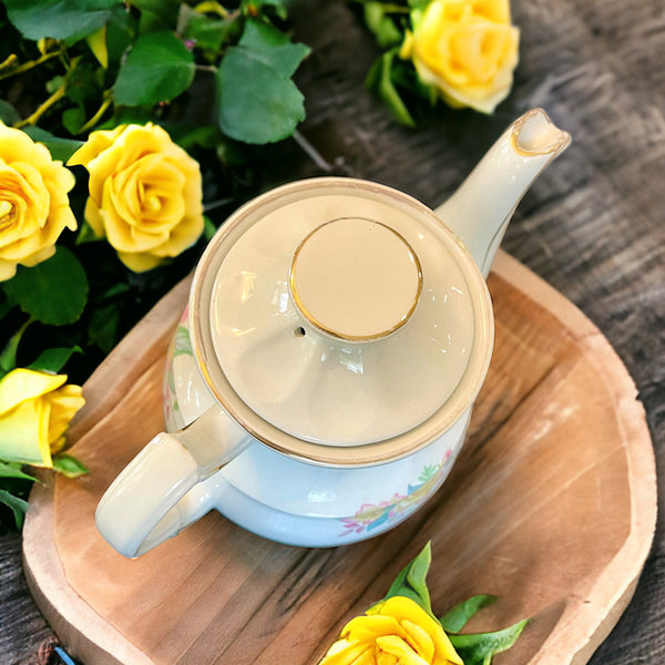
[[[182,430],[158,433],[100,500],[98,530],[124,556],[144,554],[211,510],[206,480],[253,441],[217,406]]]

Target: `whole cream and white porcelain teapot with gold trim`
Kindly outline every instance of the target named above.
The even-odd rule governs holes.
[[[335,546],[421,508],[488,371],[493,256],[569,143],[534,109],[434,211],[381,184],[314,177],[233,213],[167,352],[165,431],[102,497],[103,538],[134,557],[217,510],[274,541]]]

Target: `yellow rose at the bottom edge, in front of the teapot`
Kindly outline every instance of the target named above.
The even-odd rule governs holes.
[[[441,624],[392,596],[352,618],[319,665],[463,665]]]

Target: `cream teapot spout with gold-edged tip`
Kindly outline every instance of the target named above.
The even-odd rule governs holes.
[[[542,109],[533,109],[505,130],[460,188],[436,208],[484,277],[522,196],[570,142],[570,134]]]

